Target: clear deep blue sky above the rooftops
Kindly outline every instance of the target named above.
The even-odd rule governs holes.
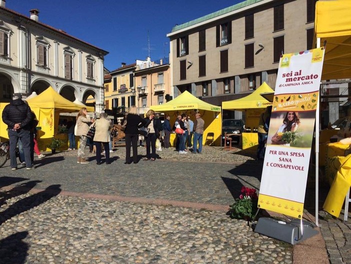
[[[182,24],[242,0],[7,0],[6,8],[29,17],[39,10],[39,21],[109,52],[108,70],[121,62],[132,64],[148,55],[168,57],[167,33]]]

